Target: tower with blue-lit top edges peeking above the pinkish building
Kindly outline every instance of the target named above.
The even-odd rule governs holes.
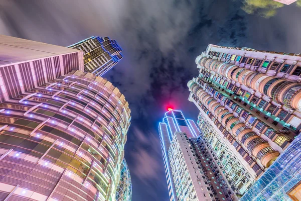
[[[84,71],[102,76],[123,58],[122,49],[109,37],[92,36],[68,46],[84,52]]]

